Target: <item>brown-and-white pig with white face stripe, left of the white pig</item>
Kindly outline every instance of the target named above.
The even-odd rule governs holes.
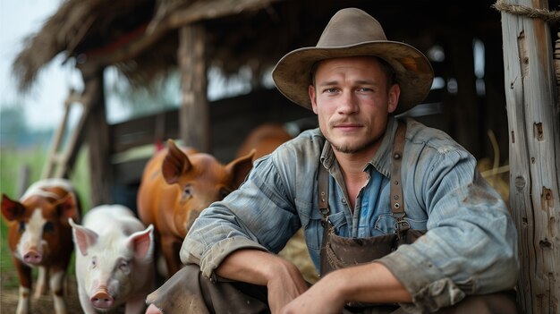
[[[16,313],[30,313],[32,267],[38,267],[35,297],[45,291],[50,276],[55,313],[66,313],[63,283],[73,250],[68,218],[81,220],[80,202],[71,182],[35,182],[19,201],[3,194],[2,215],[8,222],[8,244],[20,279]]]

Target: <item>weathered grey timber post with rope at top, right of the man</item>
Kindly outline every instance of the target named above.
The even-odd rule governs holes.
[[[547,0],[506,4],[548,10]],[[510,132],[510,208],[520,240],[519,301],[527,313],[560,308],[560,129],[550,30],[502,11]]]

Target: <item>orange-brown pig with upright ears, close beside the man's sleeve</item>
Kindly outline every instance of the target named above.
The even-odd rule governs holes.
[[[146,225],[155,226],[167,276],[181,267],[182,241],[200,211],[237,189],[252,167],[253,152],[222,165],[195,149],[179,149],[173,140],[152,157],[142,174],[137,205]]]

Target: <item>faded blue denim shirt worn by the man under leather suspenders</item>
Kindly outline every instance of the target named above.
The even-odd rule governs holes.
[[[519,273],[517,233],[503,199],[476,170],[476,159],[445,132],[406,119],[402,182],[406,219],[428,233],[377,262],[411,293],[408,310],[437,310],[468,294],[513,288]],[[392,233],[389,179],[396,120],[390,117],[376,155],[364,166],[369,181],[352,210],[341,170],[321,132],[302,132],[261,157],[242,186],[202,211],[182,244],[185,264],[204,276],[234,250],[278,252],[303,227],[319,269],[323,227],[318,166],[329,173],[330,216],[345,237]]]

